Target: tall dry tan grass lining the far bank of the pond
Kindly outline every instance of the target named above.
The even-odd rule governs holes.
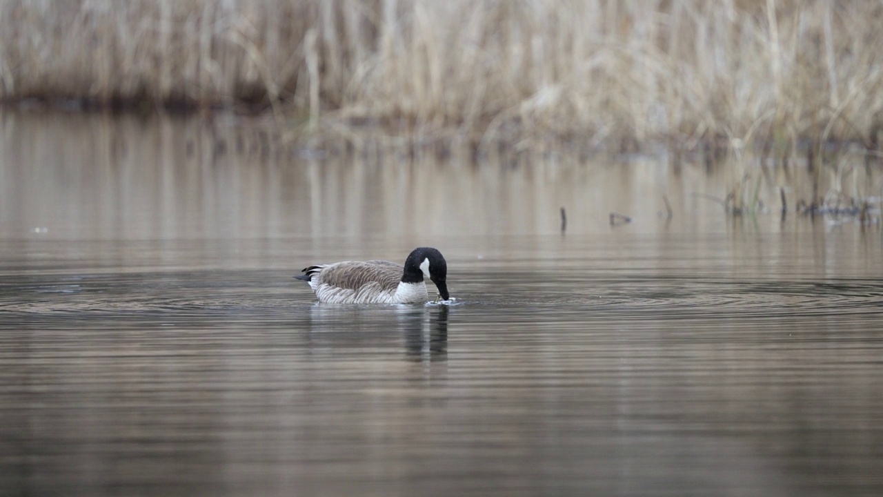
[[[259,101],[486,139],[876,146],[881,26],[872,0],[3,0],[0,96]]]

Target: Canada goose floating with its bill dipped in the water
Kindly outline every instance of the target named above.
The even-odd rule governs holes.
[[[295,276],[310,284],[319,302],[415,303],[426,302],[425,277],[432,279],[443,300],[448,300],[448,263],[442,252],[418,247],[402,264],[389,261],[343,261],[306,267]]]

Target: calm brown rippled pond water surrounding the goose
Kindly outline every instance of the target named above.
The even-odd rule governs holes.
[[[0,122],[2,495],[883,494],[879,226],[666,157]],[[291,278],[418,245],[456,304]]]

